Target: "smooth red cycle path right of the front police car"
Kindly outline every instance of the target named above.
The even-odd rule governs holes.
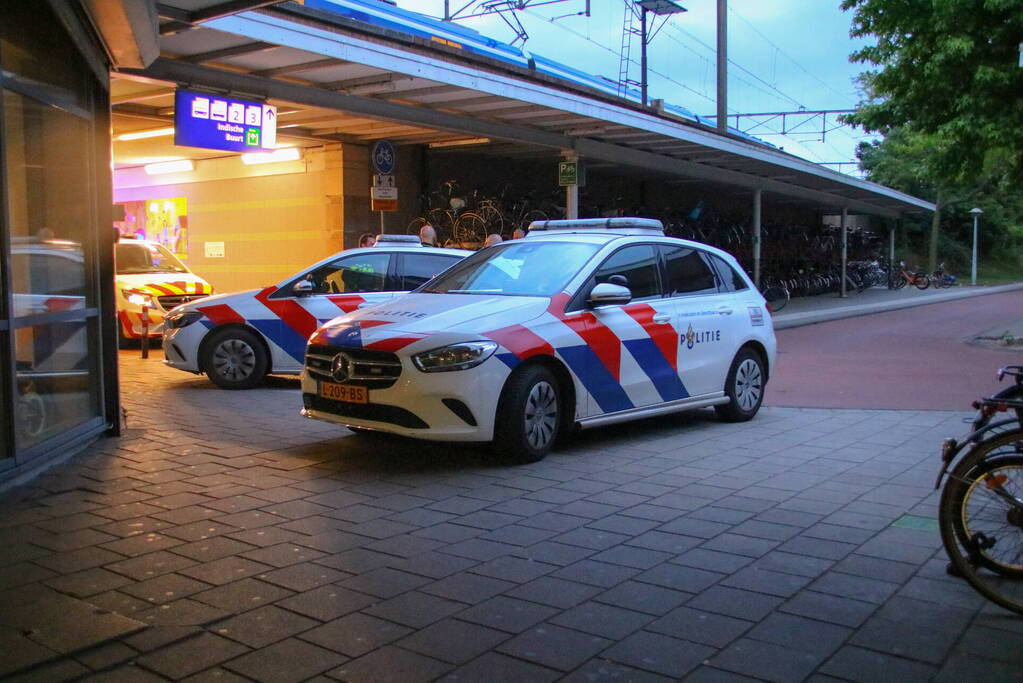
[[[1021,320],[1023,292],[1013,291],[779,330],[764,404],[970,410],[1004,385],[999,367],[1023,365],[1023,349],[969,342]]]

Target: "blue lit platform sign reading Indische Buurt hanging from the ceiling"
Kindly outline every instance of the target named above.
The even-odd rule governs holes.
[[[265,151],[277,143],[277,107],[203,92],[174,94],[174,144]]]

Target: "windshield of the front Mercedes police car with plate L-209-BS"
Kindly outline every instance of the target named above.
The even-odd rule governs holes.
[[[477,252],[421,291],[553,297],[599,248],[577,242],[516,240]]]

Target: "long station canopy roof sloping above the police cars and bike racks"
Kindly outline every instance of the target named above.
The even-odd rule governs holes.
[[[577,154],[591,168],[666,182],[759,188],[829,212],[895,218],[933,211],[685,109],[464,27],[379,0],[169,0],[157,4],[160,56],[113,75],[115,139],[173,125],[187,87],[277,106],[278,141],[428,144],[496,157]],[[119,141],[118,168],[181,157],[169,137]],[[192,158],[223,152],[189,148]]]

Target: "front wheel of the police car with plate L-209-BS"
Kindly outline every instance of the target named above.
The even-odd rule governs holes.
[[[558,440],[561,403],[558,380],[545,367],[513,374],[497,406],[495,448],[521,462],[541,460]]]

